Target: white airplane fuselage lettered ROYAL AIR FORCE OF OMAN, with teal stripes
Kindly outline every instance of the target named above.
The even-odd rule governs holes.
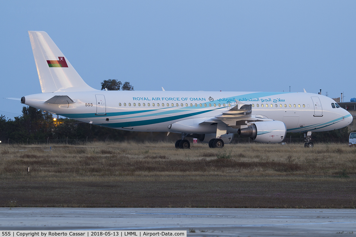
[[[66,95],[74,103],[44,102],[56,95]],[[252,104],[254,115],[284,122],[288,132],[328,131],[352,122],[349,112],[331,106],[335,103],[333,99],[313,93],[82,91],[25,96],[28,106],[86,123],[132,131],[170,131],[170,124],[192,118],[203,122],[230,109],[235,101]],[[236,131],[227,128],[228,133]],[[192,131],[215,132],[216,128],[208,127]]]

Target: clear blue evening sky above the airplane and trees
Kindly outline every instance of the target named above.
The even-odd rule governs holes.
[[[91,87],[356,97],[356,1],[1,1],[0,114],[41,93],[29,30]]]

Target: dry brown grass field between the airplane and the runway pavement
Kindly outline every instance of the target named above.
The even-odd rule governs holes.
[[[0,146],[2,207],[355,208],[355,181],[345,144]]]

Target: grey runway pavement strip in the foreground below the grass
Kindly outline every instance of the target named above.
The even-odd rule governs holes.
[[[0,208],[1,230],[187,230],[188,236],[220,237],[356,236],[356,210]]]

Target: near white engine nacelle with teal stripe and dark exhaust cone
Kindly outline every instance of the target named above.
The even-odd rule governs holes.
[[[237,133],[258,142],[278,143],[286,137],[287,127],[281,121],[261,121],[251,123],[251,126],[241,128]]]

